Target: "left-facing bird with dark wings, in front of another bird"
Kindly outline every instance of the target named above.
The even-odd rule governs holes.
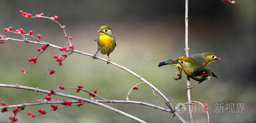
[[[202,64],[197,63],[196,61],[192,60],[189,57],[182,56],[172,61],[175,63],[173,64],[173,66],[177,66],[181,68],[181,70],[183,70],[184,73],[189,78],[192,78],[198,81],[199,83],[202,83],[204,80],[208,79],[209,78],[208,76],[210,75],[217,78],[217,76],[212,71],[208,70]],[[197,86],[199,83],[195,84],[195,86]],[[187,87],[186,90],[191,89],[195,86]]]

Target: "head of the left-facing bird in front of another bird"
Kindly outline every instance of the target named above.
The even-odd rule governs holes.
[[[182,69],[198,66],[198,63],[196,63],[196,61],[194,61],[191,58],[186,57],[186,56],[179,57],[178,59],[173,60],[173,61],[177,62],[178,64],[176,64],[176,66],[180,67]]]

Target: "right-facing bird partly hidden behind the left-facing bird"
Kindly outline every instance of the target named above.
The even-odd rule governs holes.
[[[203,52],[203,53],[192,54],[192,55],[189,55],[188,57],[191,58],[192,60],[196,61],[197,63],[203,65],[204,67],[207,64],[210,64],[215,60],[221,60],[214,53],[211,53],[211,52]],[[163,62],[159,63],[158,67],[164,66],[166,64],[176,64],[176,63],[169,59],[169,61],[163,61]],[[178,70],[179,70],[180,73],[178,74],[176,72],[176,74],[179,77],[178,78],[173,78],[175,80],[181,79],[182,70],[179,67],[178,67]]]

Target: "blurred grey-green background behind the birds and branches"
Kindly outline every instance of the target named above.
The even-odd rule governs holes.
[[[255,0],[229,1],[189,1],[189,53],[213,52],[221,61],[207,66],[219,79],[211,78],[191,90],[192,100],[208,104],[210,122],[256,122],[255,104],[255,46],[256,46],[256,8]],[[25,18],[19,10],[33,16],[41,12],[45,16],[59,17],[58,21],[66,25],[66,31],[73,37],[76,50],[95,53],[96,39],[101,25],[109,25],[116,36],[117,47],[110,54],[111,61],[123,64],[138,75],[148,80],[167,96],[175,106],[187,102],[186,77],[175,81],[176,67],[158,68],[160,61],[176,59],[185,55],[185,1],[184,0],[90,0],[90,1],[34,1],[3,0],[1,1],[0,28],[12,26],[23,28],[26,32],[33,30],[33,35],[42,35],[42,40],[49,43],[67,46],[67,40],[59,25],[47,19]],[[0,31],[1,35],[22,39],[20,35]],[[32,39],[31,39],[32,40]],[[77,53],[65,59],[63,66],[57,66],[55,74],[46,75],[48,68],[56,61],[53,55],[59,54],[56,48],[49,47],[37,60],[27,74],[30,63],[27,60],[36,56],[41,45],[6,41],[0,44],[0,83],[19,84],[39,87],[44,90],[57,89],[59,86],[84,86],[85,90],[98,90],[98,95],[107,99],[125,100],[129,89],[140,81],[135,76],[100,60],[92,61],[89,56]],[[100,57],[106,55],[98,53]],[[148,56],[147,56],[148,55]],[[145,57],[147,56],[147,57]],[[112,70],[109,70],[112,68]],[[191,85],[196,84],[191,80]],[[87,93],[75,90],[59,92],[90,99]],[[14,88],[0,88],[0,102],[20,104],[26,101],[44,98],[45,94]],[[62,97],[54,96],[60,99]],[[140,85],[139,90],[131,92],[130,100],[137,100],[166,107],[165,101],[158,95],[154,98],[151,88]],[[97,98],[95,98],[97,99]],[[221,112],[215,112],[215,104],[244,104],[241,113],[226,113],[226,106]],[[108,104],[108,103],[107,103]],[[135,104],[108,104],[119,110],[134,115],[146,122],[180,122],[173,115],[151,107]],[[125,116],[93,104],[82,107],[72,106],[58,109],[29,118],[28,111],[37,114],[38,108],[49,110],[50,104],[29,106],[17,115],[19,123],[45,122],[80,122],[109,123],[135,122]],[[0,113],[0,122],[10,122],[12,108]],[[186,110],[181,116],[189,122]],[[193,113],[194,122],[206,122],[206,113]]]

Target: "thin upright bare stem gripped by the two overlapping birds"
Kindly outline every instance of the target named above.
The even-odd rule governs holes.
[[[185,52],[188,57],[188,0],[185,1]],[[187,87],[190,87],[189,77],[187,76]],[[188,102],[191,102],[190,89],[187,90]],[[193,116],[191,110],[191,103],[188,104],[190,122],[193,123]]]

